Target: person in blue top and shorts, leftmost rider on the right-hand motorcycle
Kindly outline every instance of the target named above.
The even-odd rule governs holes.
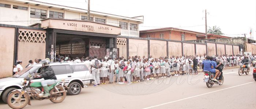
[[[208,72],[211,72],[211,73],[214,73],[215,76],[213,78],[214,81],[216,82],[219,82],[216,78],[219,77],[219,70],[215,69],[214,68],[214,65],[212,64],[212,62],[210,61],[210,56],[206,56],[206,60],[203,61],[203,70],[204,71],[208,71]]]

